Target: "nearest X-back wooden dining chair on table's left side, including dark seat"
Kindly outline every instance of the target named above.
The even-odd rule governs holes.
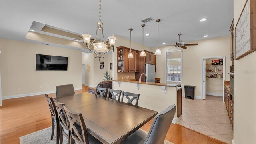
[[[76,113],[69,110],[66,106],[63,106],[63,109],[68,119],[70,144],[102,144],[99,140],[87,132],[84,118],[81,113]]]

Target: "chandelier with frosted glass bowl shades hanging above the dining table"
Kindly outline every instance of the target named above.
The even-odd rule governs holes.
[[[101,12],[101,0],[100,0],[100,12]],[[104,58],[102,57],[103,54],[106,54],[107,52],[109,52],[110,50],[114,51],[114,45],[115,45],[115,41],[116,41],[116,37],[114,36],[110,36],[108,37],[108,41],[105,40],[104,38],[104,33],[103,33],[103,23],[101,22],[100,16],[99,16],[99,22],[97,22],[97,28],[96,28],[96,36],[94,38],[94,40],[92,42],[90,42],[91,39],[91,35],[90,34],[82,34],[83,35],[83,39],[84,39],[84,44],[85,44],[85,48],[89,49],[91,52],[93,52],[94,54],[96,54],[97,56],[95,56],[95,58]],[[99,41],[95,42],[96,38],[97,38],[97,33],[99,31]],[[102,38],[101,38],[101,33],[102,33]],[[92,48],[94,48],[94,50],[92,50]],[[107,51],[105,52],[105,50],[107,49]],[[103,52],[103,53],[102,53]]]

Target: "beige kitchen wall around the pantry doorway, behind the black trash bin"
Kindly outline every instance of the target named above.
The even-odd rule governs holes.
[[[182,52],[182,85],[196,86],[195,96],[202,97],[202,58],[226,56],[226,80],[230,76],[230,36],[221,36],[217,38],[208,38],[205,40],[197,40],[198,46],[188,46]],[[162,55],[156,56],[156,77],[161,78],[161,82],[165,82],[165,59],[166,51],[171,46],[162,46],[160,50]],[[156,48],[152,48],[152,51]],[[180,48],[172,48],[171,50],[180,50]],[[184,90],[182,92],[184,94]]]

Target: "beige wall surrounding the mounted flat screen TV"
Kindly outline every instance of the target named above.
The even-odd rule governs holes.
[[[7,39],[0,39],[0,50],[3,98],[54,91],[62,84],[82,88],[81,51]],[[68,57],[68,71],[36,71],[36,54]]]

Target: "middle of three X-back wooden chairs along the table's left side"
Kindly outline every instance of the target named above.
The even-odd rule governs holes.
[[[65,106],[64,103],[57,102],[55,99],[53,99],[54,104],[56,106],[59,122],[60,122],[60,144],[63,143],[63,136],[65,136],[68,141],[70,141],[69,138],[69,132],[68,132],[68,122],[65,116],[65,112],[63,110],[63,106]]]

